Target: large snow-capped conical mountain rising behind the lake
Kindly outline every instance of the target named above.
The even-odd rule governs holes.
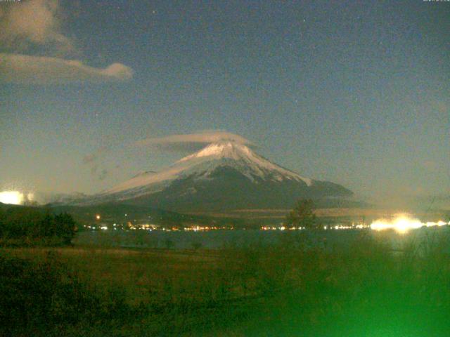
[[[171,211],[289,208],[300,198],[333,200],[352,192],[304,178],[230,140],[207,145],[158,173],[149,171],[82,204],[123,202]]]

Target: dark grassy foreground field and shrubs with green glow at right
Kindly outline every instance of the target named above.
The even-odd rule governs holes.
[[[384,242],[4,248],[0,336],[448,336],[448,238]]]

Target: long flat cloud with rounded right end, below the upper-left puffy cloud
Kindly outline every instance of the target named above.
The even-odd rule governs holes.
[[[83,65],[78,60],[0,53],[0,80],[20,84],[127,81],[133,70],[113,63],[105,69]]]

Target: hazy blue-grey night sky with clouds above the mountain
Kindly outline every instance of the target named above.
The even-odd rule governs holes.
[[[364,196],[448,194],[449,32],[450,1],[0,2],[0,190],[99,192],[228,132]]]

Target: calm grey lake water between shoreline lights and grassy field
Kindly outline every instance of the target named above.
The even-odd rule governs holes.
[[[88,231],[80,232],[73,240],[75,244],[121,246],[133,248],[171,249],[221,249],[224,247],[245,247],[249,245],[274,245],[299,242],[324,246],[327,249],[345,247],[364,235],[370,235],[393,249],[401,249],[404,244],[434,244],[446,240],[450,242],[450,227],[429,227],[411,230],[406,234],[394,231],[375,232],[373,230],[322,230],[322,231],[281,231],[281,230],[211,230],[205,232],[162,230],[146,231]]]

